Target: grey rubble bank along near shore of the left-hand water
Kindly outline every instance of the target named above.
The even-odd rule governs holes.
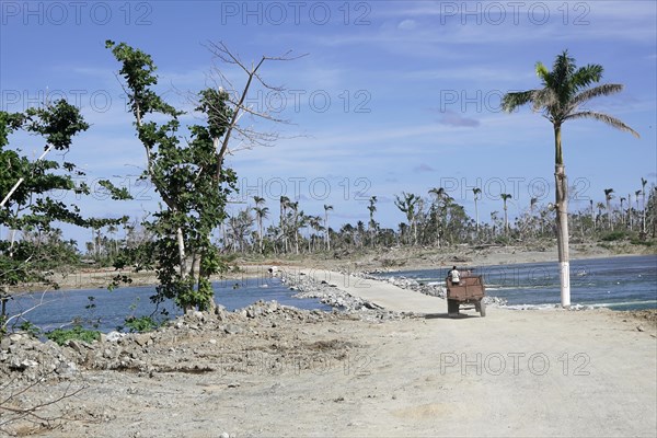
[[[30,333],[12,333],[0,341],[0,381],[67,379],[80,369],[149,374],[211,371],[217,367],[217,360],[212,360],[217,354],[210,351],[249,350],[249,345],[258,341],[280,338],[267,331],[286,323],[341,318],[347,316],[337,311],[308,311],[276,301],[257,301],[234,312],[223,307],[214,312],[189,312],[149,333],[111,332],[91,344],[68,341],[60,346],[53,341],[42,342]],[[195,348],[186,346],[192,341]]]

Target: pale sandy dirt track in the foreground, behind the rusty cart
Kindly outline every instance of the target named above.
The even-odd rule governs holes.
[[[374,289],[381,285],[372,281]],[[415,292],[389,286],[390,306],[412,302]],[[351,292],[358,290],[373,289]],[[610,311],[491,308],[486,318],[449,319],[445,301],[424,298],[440,304],[423,318],[260,328],[261,341],[275,338],[281,347],[276,367],[267,356],[198,374],[85,371],[90,388],[68,403],[87,415],[47,435],[655,437],[653,327],[639,332],[636,321]],[[221,336],[200,331],[177,347],[189,351],[191,362],[220,358],[227,350],[217,351],[210,339]],[[265,348],[253,337],[232,335],[232,342]],[[283,348],[291,339],[321,347],[300,366],[295,350]]]

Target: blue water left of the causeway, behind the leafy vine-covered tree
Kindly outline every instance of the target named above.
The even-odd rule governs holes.
[[[222,280],[212,284],[215,301],[229,311],[241,309],[257,300],[276,300],[280,304],[293,306],[299,309],[324,310],[332,308],[315,299],[292,298],[297,291],[290,290],[279,278],[244,278],[239,280]],[[25,319],[43,331],[61,326],[70,326],[78,320],[85,327],[97,324],[97,330],[107,333],[123,325],[128,315],[150,315],[155,310],[149,297],[154,293],[152,286],[107,289],[80,289],[50,291],[18,297],[8,302],[10,315],[23,312],[42,302],[25,314]],[[90,300],[89,297],[93,297]],[[90,308],[90,304],[95,304]],[[169,319],[161,311],[169,312],[169,318],[182,314],[172,301],[166,301],[157,309],[153,318]],[[20,324],[20,323],[19,323]]]

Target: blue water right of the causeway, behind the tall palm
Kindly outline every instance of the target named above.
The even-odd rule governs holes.
[[[553,307],[561,303],[556,262],[475,267],[484,276],[486,295],[507,300],[512,308]],[[381,276],[405,276],[418,281],[443,283],[449,268],[404,270]],[[573,304],[612,310],[657,308],[657,255],[570,262]]]

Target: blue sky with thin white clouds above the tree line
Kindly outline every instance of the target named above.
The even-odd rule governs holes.
[[[107,177],[137,198],[117,205],[99,194],[84,203],[88,214],[141,216],[155,205],[149,187],[136,181],[145,154],[115,76],[118,64],[104,48],[107,38],[149,53],[160,91],[187,108],[188,92],[215,83],[214,68],[235,88],[245,80],[214,59],[208,42],[226,43],[246,62],[306,54],[265,64],[262,76],[287,91],[255,89],[250,100],[290,124],[242,119],[281,139],[251,150],[234,143],[229,159],[240,177],[239,198],[265,197],[273,219],[281,194],[309,215],[333,205],[334,228],[367,222],[370,196],[379,199],[376,219],[396,228],[405,218],[394,195],[428,196],[440,186],[472,216],[472,187],[482,188],[483,220],[502,210],[500,193],[512,195],[511,216],[531,197],[548,204],[554,197],[552,126],[529,108],[505,114],[499,100],[507,91],[538,88],[535,62],[551,67],[564,49],[580,66],[602,65],[603,82],[625,85],[590,107],[642,136],[591,120],[564,126],[566,172],[577,188],[570,209],[603,200],[609,187],[618,197],[634,197],[642,177],[657,177],[654,1],[0,4],[1,108],[23,111],[46,93],[67,97],[92,124],[67,160],[87,170],[89,183]],[[194,115],[184,120],[194,123]],[[14,145],[35,155],[43,148],[35,138]]]

